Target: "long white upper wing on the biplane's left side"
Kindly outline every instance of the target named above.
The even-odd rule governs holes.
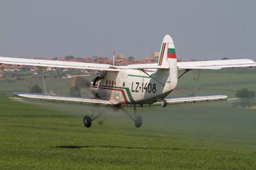
[[[26,65],[26,66],[45,66],[57,68],[78,68],[86,70],[107,70],[119,71],[111,65],[96,64],[96,63],[83,63],[83,62],[70,62],[70,61],[53,61],[46,59],[25,59],[25,58],[4,58],[0,57],[0,63],[8,65]]]

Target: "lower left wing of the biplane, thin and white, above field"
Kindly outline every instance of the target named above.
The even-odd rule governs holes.
[[[114,105],[109,102],[109,100],[101,99],[91,99],[91,98],[74,98],[74,97],[58,97],[58,96],[49,96],[36,93],[13,93],[13,95],[29,98],[29,99],[38,99],[40,101],[46,102],[59,102],[63,104],[99,104],[99,105]]]

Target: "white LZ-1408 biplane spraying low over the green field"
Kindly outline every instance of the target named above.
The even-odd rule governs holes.
[[[136,114],[136,107],[138,106],[162,105],[166,107],[168,104],[227,100],[226,95],[166,98],[175,89],[180,77],[189,71],[256,66],[255,61],[252,59],[177,62],[175,47],[170,35],[164,36],[158,63],[153,64],[115,66],[97,63],[6,57],[0,57],[0,64],[97,70],[97,77],[90,83],[90,89],[95,98],[60,97],[35,93],[13,93],[13,95],[40,101],[103,105],[104,109],[96,116],[93,113],[90,116],[88,114],[84,116],[83,122],[85,127],[91,127],[92,121],[109,111],[109,109],[115,109],[127,114],[134,121],[134,125],[137,128],[142,125],[142,117]],[[183,73],[179,76],[178,70],[183,70]],[[134,107],[134,116],[125,110],[127,106]]]

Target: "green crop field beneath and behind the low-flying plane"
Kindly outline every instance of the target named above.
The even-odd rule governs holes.
[[[195,77],[185,75],[172,95],[192,93]],[[255,78],[255,70],[203,72],[198,92],[234,97],[255,90]],[[0,84],[0,169],[256,169],[256,110],[231,102],[145,107],[141,128],[122,112],[84,128],[92,107],[12,102],[10,91],[26,83]],[[65,93],[64,84],[48,87]]]

